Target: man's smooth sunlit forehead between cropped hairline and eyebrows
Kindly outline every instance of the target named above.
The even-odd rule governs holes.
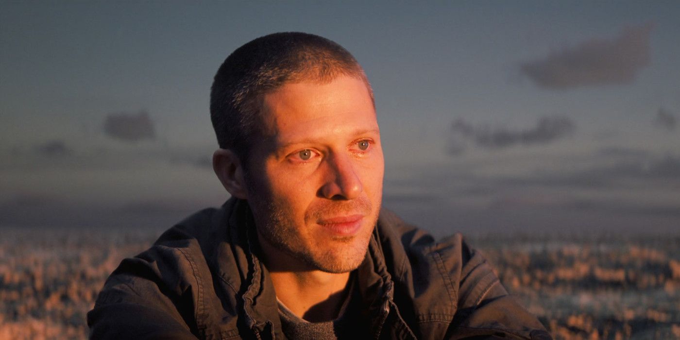
[[[285,84],[265,95],[262,104],[262,118],[279,146],[378,129],[367,85],[350,76]]]

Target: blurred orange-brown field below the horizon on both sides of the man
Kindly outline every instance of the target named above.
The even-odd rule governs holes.
[[[0,339],[84,339],[122,258],[160,230],[0,229]],[[680,235],[476,235],[556,339],[680,339]]]

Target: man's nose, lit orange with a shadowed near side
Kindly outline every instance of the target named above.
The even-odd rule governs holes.
[[[347,156],[335,155],[328,160],[326,181],[320,194],[326,199],[356,199],[364,188],[352,160]]]

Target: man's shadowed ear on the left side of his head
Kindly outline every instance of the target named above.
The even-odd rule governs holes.
[[[213,154],[213,170],[231,196],[248,199],[248,187],[243,180],[243,166],[232,150],[216,150]]]

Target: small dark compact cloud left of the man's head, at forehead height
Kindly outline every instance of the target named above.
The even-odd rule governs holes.
[[[129,142],[156,138],[154,124],[146,111],[137,114],[108,114],[104,122],[104,132],[109,137]]]

